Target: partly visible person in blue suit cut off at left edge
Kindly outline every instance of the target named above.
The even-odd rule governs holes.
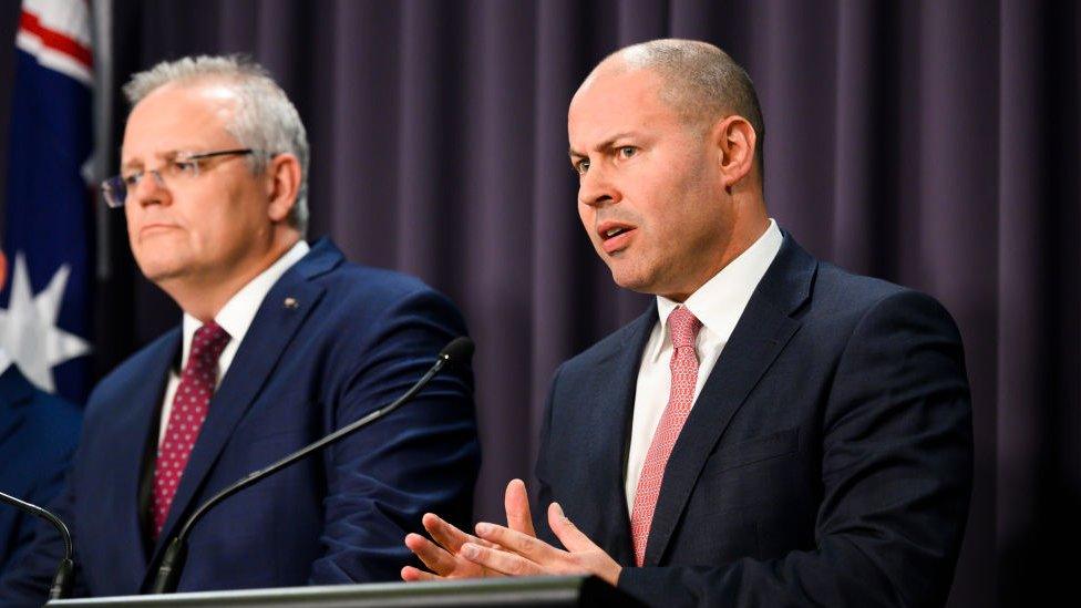
[[[0,251],[0,289],[8,275]],[[0,492],[44,505],[60,492],[79,442],[82,412],[33,384],[0,348]],[[32,536],[37,519],[0,505],[0,576]]]

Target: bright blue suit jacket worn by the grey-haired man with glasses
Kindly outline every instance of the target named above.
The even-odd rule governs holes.
[[[456,308],[421,281],[348,264],[316,244],[264,299],[184,471],[161,537],[147,534],[158,411],[176,328],[104,378],[58,511],[75,536],[79,594],[145,591],[178,523],[251,471],[400,396],[465,334]],[[398,579],[402,538],[429,511],[469,521],[480,446],[469,365],[416,399],[210,511],[189,537],[179,591]],[[59,556],[42,535],[0,583],[0,605],[43,597]],[[6,604],[7,602],[7,604]]]

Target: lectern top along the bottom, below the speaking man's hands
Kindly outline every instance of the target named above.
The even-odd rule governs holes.
[[[496,607],[564,608],[641,606],[622,591],[589,576],[490,578],[437,583],[380,583],[330,587],[284,587],[246,591],[205,591],[161,596],[124,596],[50,601],[51,608],[164,608],[214,606],[251,608]]]

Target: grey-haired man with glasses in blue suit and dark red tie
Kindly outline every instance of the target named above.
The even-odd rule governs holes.
[[[162,63],[125,86],[121,175],[142,272],[181,327],[93,391],[58,511],[79,591],[146,590],[168,539],[207,497],[390,403],[465,332],[421,281],[309,248],[308,144],[266,72],[233,58]],[[424,511],[467,519],[478,468],[472,372],[240,492],[194,528],[178,590],[388,580]],[[41,534],[0,605],[44,597],[58,539]]]

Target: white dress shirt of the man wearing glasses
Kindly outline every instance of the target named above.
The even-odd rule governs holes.
[[[286,274],[286,270],[308,254],[308,249],[307,243],[303,240],[297,241],[291,249],[278,258],[278,261],[270,265],[269,268],[248,281],[248,285],[245,285],[235,296],[229,298],[229,301],[225,302],[222,310],[214,316],[214,321],[222,326],[222,329],[229,334],[229,342],[222,350],[222,355],[218,357],[218,379],[215,388],[222,384],[225,372],[229,371],[229,364],[233,363],[233,358],[236,357],[236,351],[240,348],[240,342],[244,341],[244,334],[248,332],[251,321],[255,320],[256,312],[262,306],[262,299],[267,297],[267,292],[270,291],[274,284],[278,282],[281,275]],[[187,364],[188,353],[192,352],[192,340],[195,338],[195,330],[200,327],[203,327],[202,321],[187,312],[184,313],[184,346],[181,350],[182,367]],[[165,398],[162,402],[162,421],[157,434],[158,443],[165,437],[165,427],[168,426],[169,412],[173,411],[173,398],[176,395],[176,389],[179,385],[181,374],[177,373],[177,370],[169,367],[169,379],[165,387]]]

